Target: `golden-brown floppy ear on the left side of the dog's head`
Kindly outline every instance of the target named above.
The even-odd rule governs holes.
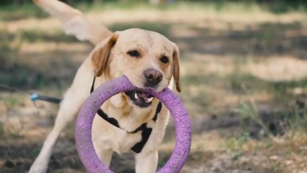
[[[116,44],[118,38],[118,34],[113,34],[108,38],[107,42],[105,42],[98,49],[94,50],[91,60],[96,70],[96,77],[101,76],[107,67],[107,63],[109,60],[109,52],[111,48]]]

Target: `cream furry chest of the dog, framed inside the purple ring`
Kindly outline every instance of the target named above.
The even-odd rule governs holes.
[[[167,114],[165,110],[161,112],[163,109],[160,102],[155,109],[143,112],[144,114],[132,110],[125,116],[122,115],[124,111],[108,110],[106,105],[101,108],[101,111],[106,110],[105,116],[117,121],[112,123],[99,113],[96,114],[92,127],[92,139],[101,149],[112,149],[118,153],[129,151],[139,153],[156,148],[162,142],[168,116],[165,115]],[[142,115],[148,117],[145,122],[146,116]]]

